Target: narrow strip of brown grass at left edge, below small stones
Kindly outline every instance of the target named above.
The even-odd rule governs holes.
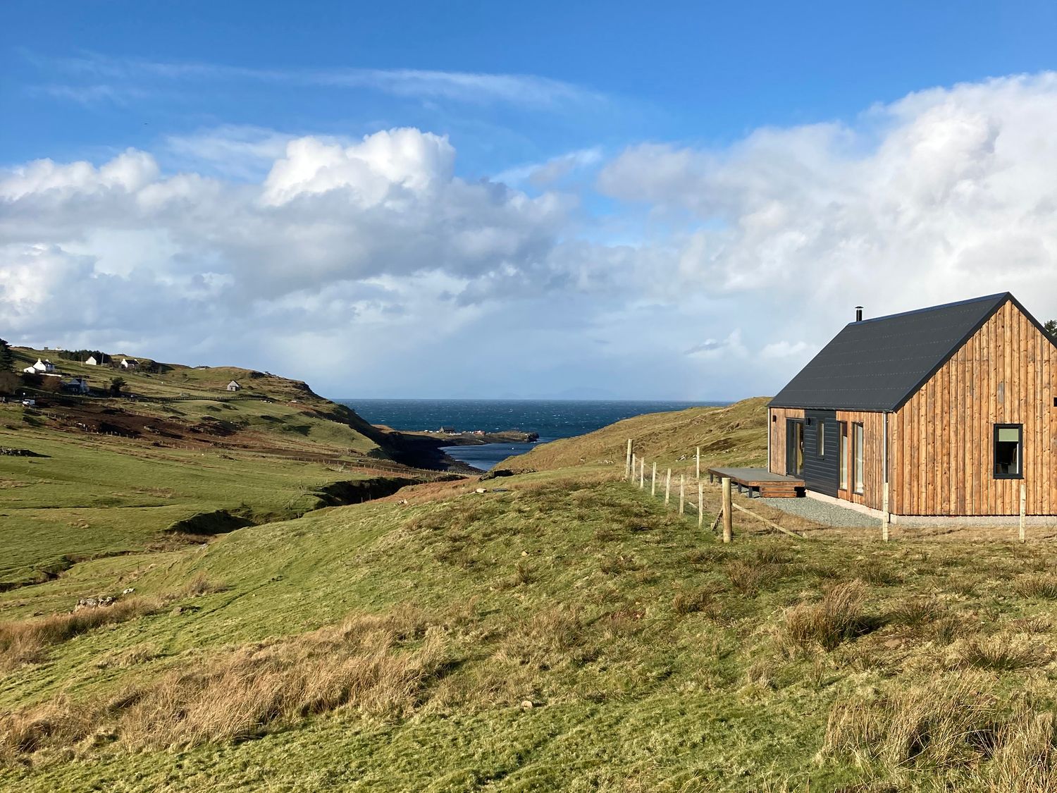
[[[103,625],[153,614],[164,608],[166,603],[162,597],[124,597],[111,606],[0,623],[0,671],[23,663],[38,662],[48,647]]]

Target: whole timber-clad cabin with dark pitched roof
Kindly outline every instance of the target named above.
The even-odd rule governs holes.
[[[1057,346],[1009,293],[849,324],[771,401],[767,468],[893,516],[1057,514]],[[897,518],[896,518],[897,519]]]

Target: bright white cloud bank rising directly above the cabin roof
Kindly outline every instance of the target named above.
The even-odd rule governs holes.
[[[1009,289],[1053,311],[1055,124],[1057,74],[996,79],[725,150],[635,146],[598,185],[688,218],[679,274],[731,299],[781,295],[832,321],[834,300],[845,316]]]

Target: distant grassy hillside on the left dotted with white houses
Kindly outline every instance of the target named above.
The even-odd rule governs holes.
[[[333,503],[337,482],[430,476],[393,459],[407,459],[398,434],[299,381],[233,367],[116,371],[15,352],[19,368],[51,355],[63,381],[88,377],[93,393],[31,377],[16,390],[35,406],[0,404],[0,448],[27,453],[0,455],[0,588],[79,559],[295,517]],[[120,398],[107,394],[116,376]],[[231,380],[241,391],[226,390]]]

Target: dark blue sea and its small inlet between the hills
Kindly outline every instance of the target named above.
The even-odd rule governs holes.
[[[521,455],[539,443],[571,438],[643,413],[684,410],[688,407],[727,405],[727,402],[635,402],[591,400],[334,400],[348,405],[371,424],[393,429],[496,432],[520,429],[537,432],[537,443],[486,443],[481,446],[449,446],[456,460],[488,471],[511,455]]]

